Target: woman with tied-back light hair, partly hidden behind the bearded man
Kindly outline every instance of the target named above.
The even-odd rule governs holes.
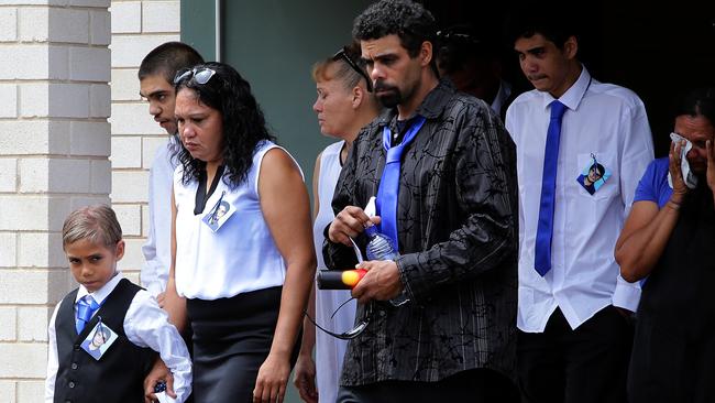
[[[314,194],[314,240],[318,270],[326,270],[322,260],[323,229],[336,217],[332,207],[333,192],[340,176],[342,162],[348,156],[360,129],[370,123],[380,112],[364,70],[355,63],[360,59],[360,46],[353,45],[336,56],[319,62],[312,69],[318,98],[312,109],[318,115],[320,132],[341,141],[328,145],[316,161],[312,176]],[[370,88],[370,90],[369,90]],[[350,268],[345,268],[350,269]],[[332,314],[351,298],[350,291],[317,290],[310,299],[310,315],[318,324],[338,333],[353,326],[355,302],[350,301],[338,313]],[[316,361],[312,348],[316,347]],[[318,331],[305,322],[302,346],[295,369],[295,385],[306,402],[334,402],[338,382],[348,341]]]

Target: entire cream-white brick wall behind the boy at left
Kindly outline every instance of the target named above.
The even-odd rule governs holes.
[[[122,270],[139,281],[147,172],[166,133],[136,69],[178,31],[178,0],[0,1],[0,403],[43,400],[50,315],[76,286],[61,242],[70,210],[111,196]]]

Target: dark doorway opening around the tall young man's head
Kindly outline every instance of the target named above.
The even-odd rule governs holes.
[[[474,23],[501,37],[504,22],[519,1],[425,0],[440,26]],[[521,2],[522,4],[522,2]],[[539,7],[530,2],[529,7]],[[581,59],[603,81],[634,90],[646,104],[656,155],[668,153],[672,102],[679,94],[715,85],[715,2],[602,0],[582,9]],[[510,45],[502,41],[506,77],[529,90]]]

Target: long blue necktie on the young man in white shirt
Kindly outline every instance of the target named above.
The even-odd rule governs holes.
[[[551,238],[553,236],[553,207],[557,190],[559,139],[561,138],[561,118],[565,110],[566,107],[558,100],[551,102],[551,120],[549,121],[547,145],[543,152],[539,225],[537,227],[534,252],[534,266],[542,276],[551,270]]]

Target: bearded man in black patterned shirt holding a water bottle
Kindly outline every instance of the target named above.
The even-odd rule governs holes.
[[[439,80],[435,28],[428,11],[405,0],[371,6],[353,28],[388,110],[361,131],[348,156],[323,254],[331,269],[353,266],[349,238],[364,246],[364,227],[382,218],[385,232],[389,218],[371,220],[361,207],[378,196],[381,209],[393,186],[400,255],[362,263],[369,271],[353,296],[358,320],[369,325],[349,344],[338,402],[515,396],[514,143],[485,102]],[[385,148],[403,142],[397,182],[382,179]],[[403,292],[407,304],[387,302]]]

